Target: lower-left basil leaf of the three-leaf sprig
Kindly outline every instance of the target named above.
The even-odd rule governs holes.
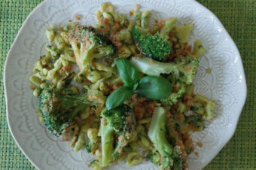
[[[119,105],[122,105],[123,102],[127,99],[130,99],[133,96],[133,90],[129,87],[123,86],[119,87],[110,96],[108,96],[106,107],[108,110],[111,108],[116,108]]]

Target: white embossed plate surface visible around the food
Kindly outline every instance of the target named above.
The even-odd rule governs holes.
[[[29,90],[29,75],[47,44],[45,29],[50,25],[63,25],[81,16],[81,23],[94,25],[95,14],[102,0],[47,0],[29,15],[23,24],[5,63],[5,97],[9,129],[20,150],[38,169],[87,169],[93,158],[85,150],[75,153],[66,142],[59,141],[39,123],[35,109],[38,101]],[[203,132],[195,132],[195,153],[188,156],[190,169],[201,169],[227,144],[236,129],[245,103],[246,84],[242,61],[230,35],[212,12],[194,0],[131,0],[112,1],[118,12],[126,13],[135,8],[153,11],[157,19],[178,17],[179,23],[194,23],[190,36],[203,41],[206,54],[200,59],[196,92],[215,99],[216,117],[206,123]],[[206,73],[211,68],[211,73]],[[197,142],[203,147],[197,147]],[[127,168],[125,163],[112,168]],[[154,169],[151,162],[143,162],[133,169]]]

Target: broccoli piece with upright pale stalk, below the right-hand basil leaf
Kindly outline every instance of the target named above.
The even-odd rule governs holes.
[[[148,137],[151,139],[156,150],[148,157],[151,162],[160,169],[171,169],[173,164],[173,147],[166,138],[166,109],[155,108],[151,125],[148,129]]]

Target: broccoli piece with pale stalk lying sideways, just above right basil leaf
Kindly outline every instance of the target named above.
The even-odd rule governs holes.
[[[197,74],[199,62],[190,57],[176,62],[157,62],[146,57],[133,57],[132,62],[144,74],[160,76],[160,74],[170,74],[172,77],[181,80],[185,84],[192,83]]]

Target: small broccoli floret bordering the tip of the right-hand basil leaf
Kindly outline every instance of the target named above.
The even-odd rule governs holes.
[[[161,99],[163,105],[174,105],[184,96],[186,92],[186,85],[184,83],[176,83],[174,88],[178,88],[178,91],[172,92],[166,99]]]

